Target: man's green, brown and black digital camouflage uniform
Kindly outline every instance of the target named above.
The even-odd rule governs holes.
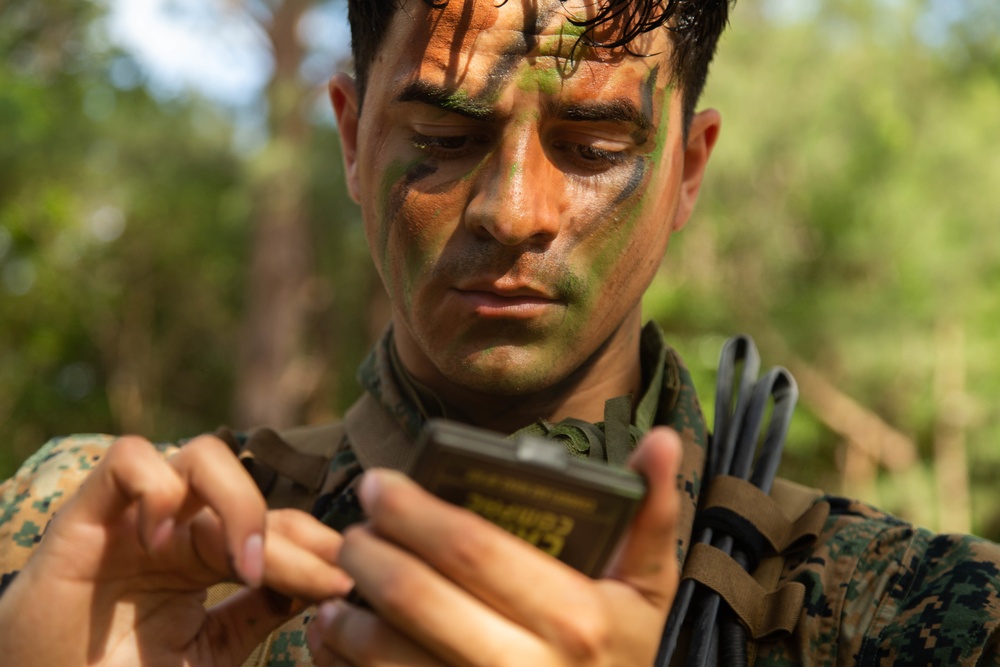
[[[298,500],[276,504],[311,509],[337,529],[362,520],[355,493],[362,470],[387,464],[405,468],[423,422],[429,416],[456,417],[406,378],[393,349],[390,331],[359,371],[367,391],[361,403],[391,415],[380,415],[383,426],[352,428],[348,413],[346,431],[338,425],[298,435],[288,432],[283,438],[267,430],[251,436],[220,433],[243,452],[247,468],[265,489],[276,488],[267,466],[257,465],[268,452],[287,447],[286,440],[294,443],[302,433],[311,434],[313,441],[326,438],[325,474],[310,478],[309,466],[303,466],[293,473],[299,478],[292,483]],[[643,331],[643,371],[646,394],[633,423],[624,425],[625,433],[634,442],[655,423],[681,434],[684,459],[678,483],[685,498],[678,552],[683,560],[702,491],[709,438],[691,378],[655,325]],[[609,402],[609,425],[598,427],[612,429],[611,411]],[[538,424],[529,431],[563,440],[578,455],[591,453],[586,429]],[[42,539],[52,515],[112,440],[103,435],[52,440],[0,486],[0,594]],[[165,455],[176,451],[173,445],[159,447]],[[610,446],[606,449],[605,458],[616,456]],[[794,632],[759,642],[755,664],[1000,665],[1000,546],[970,536],[935,535],[856,501],[829,496],[821,501],[830,506],[821,534],[785,560],[778,582],[805,587]],[[272,634],[252,657],[253,664],[311,664],[305,642],[311,613],[306,610]]]

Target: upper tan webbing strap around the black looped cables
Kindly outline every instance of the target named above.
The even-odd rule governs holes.
[[[809,496],[810,503],[814,499],[815,495]],[[815,540],[823,529],[830,506],[816,503],[804,514],[798,512],[797,507],[790,514],[782,503],[750,482],[722,475],[713,479],[706,491],[702,511],[709,509],[725,509],[739,515],[760,533],[774,553],[780,554]]]

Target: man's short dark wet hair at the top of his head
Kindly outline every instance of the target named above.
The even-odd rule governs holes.
[[[448,0],[423,0],[432,7],[443,7]],[[500,4],[507,0],[500,0]],[[580,40],[598,48],[623,48],[632,55],[629,45],[640,35],[664,28],[674,45],[673,80],[681,86],[684,102],[684,127],[691,122],[695,105],[708,77],[708,67],[715,55],[719,36],[729,21],[729,8],[735,0],[601,0],[597,12],[585,21],[574,21],[584,28]],[[399,7],[399,0],[348,0],[347,18],[351,24],[351,51],[357,77],[358,95],[363,100],[368,69],[385,37],[389,21]],[[594,39],[598,28],[611,26],[612,37]]]

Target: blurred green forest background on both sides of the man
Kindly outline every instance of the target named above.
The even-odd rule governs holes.
[[[324,108],[341,1],[173,3],[252,28],[259,94],[158,89],[102,2],[0,0],[0,477],[60,434],[337,418],[385,321]],[[995,0],[742,0],[645,302],[707,411],[732,333],[792,370],[786,476],[993,539],[998,35]]]

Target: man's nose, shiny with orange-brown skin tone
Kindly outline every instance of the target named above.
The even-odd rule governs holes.
[[[504,245],[545,246],[559,234],[561,172],[534,128],[505,138],[475,178],[465,225]]]

